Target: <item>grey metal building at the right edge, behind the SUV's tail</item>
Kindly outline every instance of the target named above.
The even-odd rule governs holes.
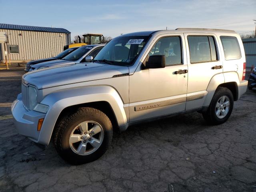
[[[256,38],[242,39],[246,57],[246,68],[256,67]]]

